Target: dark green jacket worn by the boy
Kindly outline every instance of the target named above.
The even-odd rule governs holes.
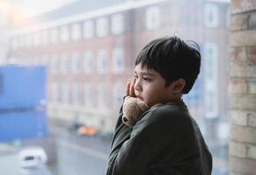
[[[107,175],[209,175],[212,156],[184,102],[143,113],[134,127],[118,118]]]

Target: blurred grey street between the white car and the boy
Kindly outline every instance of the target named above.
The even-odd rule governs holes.
[[[46,149],[50,152],[48,167],[52,175],[102,175],[106,172],[109,137],[77,136],[75,132],[56,128],[50,129],[50,136],[50,140],[55,140],[55,144],[52,144],[55,145],[54,151],[52,148]]]

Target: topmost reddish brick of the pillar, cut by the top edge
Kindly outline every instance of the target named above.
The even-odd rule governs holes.
[[[254,0],[232,0],[230,4],[231,14],[242,13],[245,11],[256,10]]]

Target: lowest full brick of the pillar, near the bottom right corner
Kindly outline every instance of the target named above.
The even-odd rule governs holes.
[[[230,171],[243,175],[256,175],[256,160],[230,157]]]

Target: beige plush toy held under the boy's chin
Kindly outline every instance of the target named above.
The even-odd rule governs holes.
[[[142,100],[127,96],[122,106],[122,122],[134,126],[137,119],[148,109],[148,105]]]

